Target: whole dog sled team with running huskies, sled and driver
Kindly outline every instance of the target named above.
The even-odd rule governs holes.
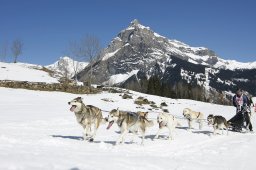
[[[119,109],[113,109],[109,112],[106,118],[103,118],[102,111],[98,107],[85,105],[81,97],[77,97],[68,102],[71,105],[70,111],[75,113],[77,122],[84,129],[84,140],[92,142],[96,136],[97,129],[101,124],[108,123],[107,129],[116,123],[120,128],[120,136],[116,144],[122,144],[125,141],[125,136],[131,132],[133,136],[141,134],[141,144],[144,144],[146,129],[154,125],[152,120],[148,118],[148,112],[129,112]],[[241,89],[236,91],[233,97],[233,105],[237,108],[236,115],[230,120],[226,120],[223,116],[210,114],[205,119],[202,112],[196,112],[189,108],[183,110],[184,119],[188,121],[188,129],[192,128],[193,122],[199,124],[199,129],[202,129],[203,122],[207,121],[208,125],[213,126],[213,134],[218,130],[229,130],[241,132],[242,128],[252,131],[250,102],[246,95],[242,94]],[[169,130],[169,139],[173,139],[173,133],[177,126],[180,126],[177,118],[168,113],[159,113],[157,116],[157,124],[159,130],[155,135],[158,138],[161,130],[167,128]]]

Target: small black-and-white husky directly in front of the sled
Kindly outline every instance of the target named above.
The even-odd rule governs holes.
[[[217,130],[222,130],[222,134],[223,134],[223,129],[227,130],[227,135],[228,135],[228,127],[229,127],[229,123],[227,122],[227,120],[222,117],[222,116],[213,116],[212,114],[210,114],[207,117],[207,121],[208,121],[208,125],[213,125],[213,134],[216,135],[216,131]]]

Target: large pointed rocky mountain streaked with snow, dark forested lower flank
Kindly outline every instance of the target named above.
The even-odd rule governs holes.
[[[92,64],[93,82],[99,84],[147,92],[149,79],[156,76],[165,86],[161,93],[175,91],[181,82],[188,89],[200,86],[208,92],[233,92],[240,86],[256,95],[256,62],[224,60],[213,50],[163,37],[138,20],[122,30]],[[89,66],[78,74],[80,80],[88,76]]]

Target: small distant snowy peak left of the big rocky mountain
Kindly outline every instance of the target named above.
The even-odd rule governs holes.
[[[73,59],[65,56],[60,57],[55,63],[45,66],[47,69],[55,72],[57,77],[72,78],[75,73],[80,72],[88,65],[88,62],[74,61]]]

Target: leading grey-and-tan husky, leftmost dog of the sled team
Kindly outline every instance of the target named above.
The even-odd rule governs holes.
[[[92,142],[103,120],[101,110],[92,105],[85,105],[81,97],[71,100],[68,104],[71,105],[70,111],[75,113],[77,122],[84,129],[84,140]],[[93,132],[92,125],[94,125]]]

